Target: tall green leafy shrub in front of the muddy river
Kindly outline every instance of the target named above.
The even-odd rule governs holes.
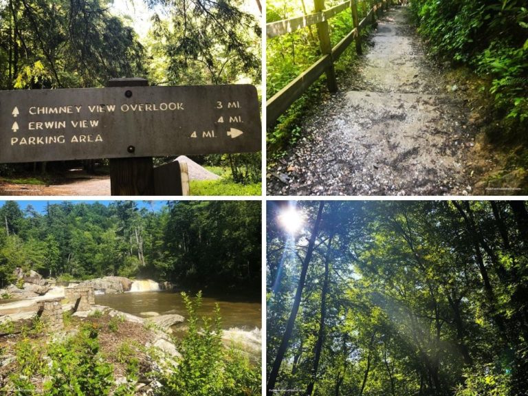
[[[181,341],[183,358],[174,373],[162,380],[161,395],[261,395],[259,368],[252,369],[241,355],[227,353],[221,337],[217,305],[212,318],[198,318],[201,292],[192,300],[181,296],[187,309],[188,333]],[[205,358],[207,357],[207,358]]]

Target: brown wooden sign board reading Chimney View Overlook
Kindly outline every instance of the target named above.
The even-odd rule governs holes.
[[[261,150],[252,85],[0,91],[0,163]]]

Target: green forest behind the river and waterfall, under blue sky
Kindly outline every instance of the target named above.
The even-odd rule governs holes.
[[[17,201],[0,207],[0,288],[15,267],[62,280],[120,275],[260,296],[261,203]]]

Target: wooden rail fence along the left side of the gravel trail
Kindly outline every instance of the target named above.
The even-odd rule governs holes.
[[[387,10],[388,6],[393,2],[394,0],[348,0],[325,10],[325,0],[314,0],[316,11],[314,14],[267,23],[266,36],[268,39],[292,33],[310,25],[317,25],[319,44],[322,53],[322,57],[319,58],[316,63],[308,67],[308,69],[292,80],[291,83],[267,100],[267,127],[269,128],[270,126],[273,126],[281,114],[283,114],[293,102],[300,98],[310,85],[316,82],[321,74],[325,73],[327,76],[327,87],[329,91],[337,91],[338,85],[333,64],[339,59],[344,50],[349,47],[352,41],[355,41],[356,52],[361,54],[361,30],[365,27],[366,23],[374,21],[375,17],[379,17],[379,12],[384,9]],[[358,3],[362,4],[363,14],[365,15],[362,21],[358,21]],[[328,20],[348,9],[351,9],[352,12],[354,28],[335,47],[331,47]]]

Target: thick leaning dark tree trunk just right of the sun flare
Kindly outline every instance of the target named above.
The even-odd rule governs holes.
[[[267,381],[267,396],[273,396],[275,389],[275,384],[277,381],[278,371],[281,369],[281,364],[286,353],[286,349],[289,344],[289,338],[292,336],[292,331],[294,330],[295,319],[299,311],[300,305],[300,296],[303,294],[303,288],[305,286],[306,274],[308,272],[308,265],[311,261],[311,255],[314,253],[314,246],[316,244],[316,237],[319,233],[319,226],[322,218],[322,208],[325,206],[325,202],[321,201],[319,203],[319,210],[316,217],[316,223],[314,224],[314,230],[311,232],[310,240],[308,243],[308,250],[306,252],[305,260],[303,262],[303,269],[300,272],[299,283],[297,285],[297,292],[294,298],[294,305],[292,307],[292,312],[289,314],[289,319],[286,325],[286,329],[283,334],[283,339],[281,340],[281,345],[278,347],[276,358],[272,365],[272,371],[270,371],[270,376]]]

